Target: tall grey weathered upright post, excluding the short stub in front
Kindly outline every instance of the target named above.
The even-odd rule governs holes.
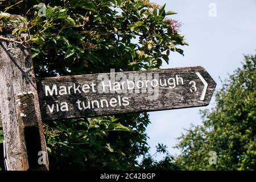
[[[18,15],[1,13],[0,25],[1,23],[3,24],[1,18],[10,20],[22,19]],[[28,35],[23,34],[20,39],[15,41],[11,39],[13,38],[11,32],[14,28],[22,26],[25,28],[22,23],[17,25],[10,22],[5,27],[0,28],[0,112],[5,139],[7,168],[10,171],[26,169],[22,163],[22,143],[20,143],[20,127],[18,125],[18,94],[21,92],[30,92],[34,95],[40,148],[41,151],[46,152],[31,52],[29,48],[17,43],[26,40]],[[48,170],[48,163],[44,164],[44,167],[44,169]]]

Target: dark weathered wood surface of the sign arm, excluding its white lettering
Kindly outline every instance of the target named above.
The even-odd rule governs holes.
[[[200,80],[199,76],[196,75],[196,72],[199,72],[200,75],[207,81],[208,88],[206,90],[204,100],[200,100],[201,93],[204,89],[204,84]],[[79,76],[63,76],[63,77],[49,77],[38,80],[38,93],[39,93],[39,103],[40,109],[42,113],[43,120],[51,120],[51,119],[64,119],[64,118],[79,118],[79,117],[95,117],[99,115],[110,115],[110,114],[121,114],[121,113],[134,113],[140,111],[156,111],[156,110],[167,110],[167,109],[180,109],[185,107],[197,107],[197,106],[207,106],[212,98],[214,89],[216,87],[216,82],[210,77],[209,73],[205,71],[203,67],[185,67],[185,68],[172,68],[172,69],[159,69],[154,71],[138,71],[138,72],[121,72],[123,73],[127,79],[129,75],[133,75],[133,78],[130,80],[142,80],[142,75],[146,75],[146,80],[151,80],[156,78],[156,80],[163,80],[167,78],[183,78],[183,84],[181,84],[181,80],[179,80],[179,85],[177,85],[177,79],[175,79],[176,86],[175,88],[170,88],[169,86],[159,86],[159,89],[155,92],[158,92],[158,97],[153,98],[150,97],[152,94],[152,90],[147,93],[98,93],[93,92],[92,89],[89,89],[88,93],[76,93],[72,92],[71,94],[53,94],[50,96],[46,96],[46,85],[49,88],[52,88],[52,85],[55,84],[57,88],[59,86],[72,86],[76,85],[84,85],[95,83],[95,87],[101,84],[102,80],[98,80],[98,77],[108,76],[109,80],[111,79],[110,75],[113,73],[101,73],[101,74],[93,74],[93,75],[79,75]],[[118,73],[114,73],[117,76]],[[152,75],[152,77],[150,77]],[[119,80],[118,80],[119,79]],[[145,79],[144,79],[145,80]],[[117,78],[115,81],[122,81],[121,78]],[[124,80],[123,80],[124,81]],[[189,82],[195,81],[197,90],[196,92],[191,92],[189,89],[192,88],[192,84]],[[159,81],[160,82],[160,81]],[[170,81],[171,82],[171,81]],[[149,84],[149,82],[148,82]],[[173,87],[174,85],[171,85]],[[154,90],[154,88],[152,88]],[[80,87],[81,90],[81,87]],[[195,91],[195,90],[192,90]],[[59,90],[58,90],[59,92]],[[108,106],[106,107],[97,107],[97,103],[94,106],[94,109],[79,109],[78,104],[76,104],[77,100],[88,101],[97,100],[100,101],[102,99],[111,100],[111,98],[119,97],[128,97],[130,104],[127,106],[118,105],[115,107]],[[68,111],[56,111],[54,110],[52,113],[49,111],[48,106],[52,106],[52,104],[61,104],[61,102],[68,103]],[[105,102],[104,102],[105,103]],[[95,102],[94,102],[95,104]]]

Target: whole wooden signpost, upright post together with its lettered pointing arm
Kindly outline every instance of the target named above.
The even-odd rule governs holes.
[[[9,19],[22,17],[2,13]],[[0,21],[1,23],[1,21]],[[0,32],[0,126],[8,170],[48,170],[42,120],[95,117],[141,111],[206,106],[216,82],[202,67],[38,78],[28,35],[12,39]],[[27,45],[28,46],[28,45]]]

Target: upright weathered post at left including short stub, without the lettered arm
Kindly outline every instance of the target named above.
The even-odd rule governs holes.
[[[43,153],[47,151],[31,53],[29,48],[24,47],[29,45],[18,43],[27,40],[28,35],[22,34],[15,40],[12,35],[14,28],[26,27],[22,23],[11,23],[21,19],[22,16],[6,13],[0,15],[11,20],[0,32],[0,120],[5,139],[6,168],[10,171],[47,170],[48,159],[44,160],[41,167],[34,165],[37,161],[30,160],[38,159],[40,151]],[[33,96],[29,103],[21,98],[22,94],[26,95],[26,93]],[[30,113],[26,112],[29,111],[28,109],[21,109],[26,108],[26,105],[31,106]],[[36,136],[27,134],[30,129],[36,133]],[[34,139],[34,143],[31,143],[31,138]],[[30,150],[35,146],[39,146],[37,147],[39,151]]]

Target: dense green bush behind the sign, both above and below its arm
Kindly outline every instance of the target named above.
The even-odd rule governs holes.
[[[159,68],[187,45],[180,24],[166,18],[175,12],[146,0],[14,0],[0,8],[24,17],[26,27],[12,32],[0,17],[0,31],[16,42],[30,35],[37,77]],[[139,169],[149,123],[147,113],[44,122],[51,169]]]

